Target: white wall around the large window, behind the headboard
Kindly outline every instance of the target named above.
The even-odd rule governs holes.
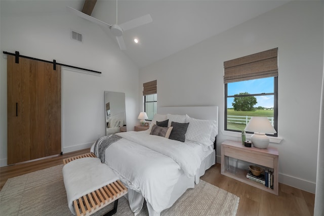
[[[221,143],[240,136],[223,131],[223,62],[278,47],[278,136],[283,140],[270,146],[279,150],[279,182],[314,193],[322,9],[322,1],[288,3],[141,69],[139,83],[157,79],[158,106],[218,105],[220,161]]]

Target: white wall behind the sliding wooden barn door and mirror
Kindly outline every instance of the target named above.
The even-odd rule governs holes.
[[[2,6],[3,7],[3,6]],[[4,9],[4,8],[3,8]],[[5,9],[4,9],[5,10]],[[71,39],[71,29],[83,42]],[[1,16],[1,53],[21,55],[101,71],[62,70],[62,151],[90,145],[105,135],[104,91],[126,94],[127,126],[138,115],[139,71],[98,26],[73,15]],[[1,55],[0,164],[7,164],[7,59]]]

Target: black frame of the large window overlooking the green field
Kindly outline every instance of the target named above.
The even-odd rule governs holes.
[[[254,80],[254,79],[251,79]],[[237,81],[238,82],[238,81]],[[230,132],[241,132],[234,129],[227,129],[227,99],[233,98],[234,96],[228,96],[228,83],[224,83],[224,93],[225,93],[225,110],[224,110],[224,131]],[[273,127],[277,133],[275,134],[266,134],[271,137],[278,137],[278,76],[273,77],[273,93],[259,93],[259,94],[249,94],[249,95],[241,95],[235,97],[249,97],[249,96],[265,96],[265,95],[273,95]],[[248,134],[253,134],[252,132],[246,132]]]

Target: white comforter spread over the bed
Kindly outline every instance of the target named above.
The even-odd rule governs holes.
[[[169,140],[147,132],[117,135],[123,139],[107,148],[105,163],[128,188],[141,193],[154,211],[168,208],[178,178],[183,173],[187,177],[195,175],[201,163],[198,151],[202,150],[197,144]],[[132,200],[129,201],[132,205]]]

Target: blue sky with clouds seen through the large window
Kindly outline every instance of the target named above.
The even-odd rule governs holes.
[[[232,96],[242,92],[248,92],[249,94],[260,94],[260,93],[273,93],[274,77],[253,79],[240,82],[231,82],[227,84],[227,94]],[[273,107],[273,95],[257,96],[257,104],[255,107],[262,106],[265,108]],[[232,108],[232,102],[234,98],[227,99],[227,108]]]

